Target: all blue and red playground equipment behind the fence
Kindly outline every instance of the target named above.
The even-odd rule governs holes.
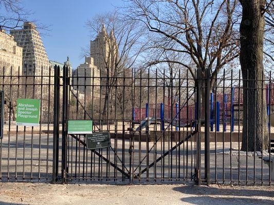
[[[266,104],[267,114],[272,112],[274,105],[274,84],[266,85]],[[215,94],[210,93],[210,131],[220,131],[220,126],[223,126],[223,131],[227,131],[227,126],[233,132],[235,124],[238,125],[242,118],[243,107],[243,89],[238,87],[231,88],[229,93]],[[195,105],[181,106],[178,103],[175,105],[146,104],[145,108],[133,108],[133,121],[141,121],[140,130],[148,126],[144,121],[148,121],[148,117],[154,118],[155,121],[161,124],[161,130],[165,130],[165,124],[171,124],[178,131],[179,128],[193,127],[195,125]],[[204,108],[202,107],[202,119],[204,119]],[[144,119],[144,120],[142,120]],[[155,122],[154,121],[154,122]],[[273,120],[274,122],[274,116]],[[153,123],[152,121],[150,121]]]

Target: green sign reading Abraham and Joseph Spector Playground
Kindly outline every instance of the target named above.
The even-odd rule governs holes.
[[[17,99],[16,125],[39,126],[40,99]]]

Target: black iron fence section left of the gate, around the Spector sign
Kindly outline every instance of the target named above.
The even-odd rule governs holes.
[[[53,68],[38,76],[22,75],[20,68],[0,68],[0,89],[5,91],[4,137],[0,142],[1,181],[52,180]],[[41,99],[40,126],[16,126],[19,98]]]

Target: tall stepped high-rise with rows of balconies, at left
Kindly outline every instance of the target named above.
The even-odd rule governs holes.
[[[17,45],[23,48],[22,81],[26,87],[22,92],[26,98],[46,98],[49,94],[49,76],[52,76],[53,82],[54,69],[50,70],[40,32],[33,23],[25,22],[23,29],[11,30],[10,34],[14,36]]]

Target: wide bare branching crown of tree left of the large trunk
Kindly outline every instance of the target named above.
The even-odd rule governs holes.
[[[211,70],[211,86],[217,73],[239,56],[239,31],[234,30],[237,1],[129,0],[127,16],[144,23],[152,37],[157,55],[150,65],[176,63],[189,69]],[[165,53],[177,52],[181,59],[168,58]]]

